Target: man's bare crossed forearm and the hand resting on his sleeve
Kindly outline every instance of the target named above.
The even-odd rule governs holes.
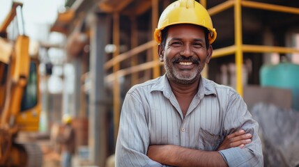
[[[229,134],[217,150],[233,147],[244,148],[251,142],[251,134],[244,130]],[[217,151],[194,150],[178,145],[151,145],[147,152],[148,157],[160,164],[169,166],[227,166],[222,155]]]

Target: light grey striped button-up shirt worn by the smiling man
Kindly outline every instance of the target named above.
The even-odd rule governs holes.
[[[258,123],[233,88],[201,77],[185,117],[166,75],[133,86],[125,96],[116,142],[116,166],[163,166],[146,156],[149,145],[217,150],[225,136],[244,129],[245,148],[220,154],[229,166],[263,166]]]

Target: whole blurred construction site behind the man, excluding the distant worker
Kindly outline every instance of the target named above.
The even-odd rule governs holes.
[[[56,138],[68,114],[74,166],[113,166],[125,93],[164,74],[153,31],[171,2],[0,0],[0,163],[18,157],[7,145],[35,143],[15,159],[42,154],[36,166],[60,166]],[[199,2],[217,31],[203,76],[243,96],[265,166],[298,166],[299,2]]]

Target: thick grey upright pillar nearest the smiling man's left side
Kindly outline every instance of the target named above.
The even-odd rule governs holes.
[[[91,22],[91,54],[89,92],[89,158],[95,166],[105,166],[107,158],[107,125],[104,63],[105,45],[109,34],[109,19],[98,14]]]

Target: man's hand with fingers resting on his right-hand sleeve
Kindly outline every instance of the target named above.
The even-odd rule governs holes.
[[[217,151],[236,147],[244,148],[246,144],[252,142],[251,138],[252,134],[245,134],[245,131],[240,129],[237,132],[226,136]]]

